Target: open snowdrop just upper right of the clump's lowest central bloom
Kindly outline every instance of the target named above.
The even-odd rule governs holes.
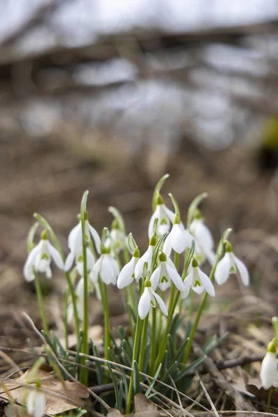
[[[152,289],[156,291],[156,288],[159,287],[162,291],[165,291],[170,287],[170,282],[172,281],[179,291],[183,291],[183,280],[177,272],[174,263],[167,258],[164,252],[161,252],[158,260],[160,263],[150,278]]]

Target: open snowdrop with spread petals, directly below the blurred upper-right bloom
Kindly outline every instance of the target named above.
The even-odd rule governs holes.
[[[206,291],[211,297],[215,296],[215,291],[213,283],[208,278],[202,270],[200,270],[198,262],[196,259],[192,261],[192,270],[189,272],[188,276],[184,279],[184,287],[181,292],[181,298],[184,299],[188,296],[190,288],[197,294],[202,294]]]

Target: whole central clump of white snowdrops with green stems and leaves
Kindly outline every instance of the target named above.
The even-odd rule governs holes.
[[[44,337],[58,357],[67,359],[69,323],[74,320],[78,341],[76,366],[67,370],[88,385],[85,359],[92,358],[88,355],[91,345],[98,384],[108,379],[113,382],[115,393],[109,405],[124,409],[126,414],[133,410],[134,395],[140,391],[151,398],[156,390],[173,395],[171,390],[188,389],[192,370],[204,360],[199,358],[188,363],[207,299],[211,301],[215,295],[215,284],[224,284],[236,272],[244,285],[249,284],[247,268],[234,254],[228,240],[231,229],[224,231],[215,248],[211,231],[198,208],[206,193],[193,200],[184,217],[172,194],[172,208],[164,203],[161,188],[167,177],[158,181],[154,189],[146,252],[140,252],[132,234],[126,236],[122,215],[114,207],[108,208],[114,217],[111,229],[104,227],[99,236],[86,207],[88,191],[82,198],[78,224],[68,236],[70,253],[66,258],[54,230],[38,213],[34,215],[36,222],[27,239],[29,253],[24,277],[26,281],[35,281]],[[40,241],[35,244],[38,227],[43,230]],[[65,271],[67,279],[63,300],[65,347],[49,332],[38,277],[40,273],[52,277],[51,261]],[[206,275],[204,267],[207,269],[208,265],[211,272]],[[129,317],[128,329],[120,326],[112,332],[108,286],[117,286],[122,291]],[[92,291],[103,305],[103,357],[94,341],[88,339],[88,303]],[[193,312],[195,296],[199,304]],[[185,329],[183,340],[178,337],[181,328]],[[208,354],[218,343],[215,337],[208,340],[204,352]]]

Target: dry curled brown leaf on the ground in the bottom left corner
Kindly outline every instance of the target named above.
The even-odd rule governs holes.
[[[8,401],[10,397],[13,400],[24,403],[26,396],[31,391],[31,386],[26,386],[28,382],[28,375],[31,370],[26,370],[26,373],[21,377],[15,378],[12,381],[0,384],[0,395]],[[88,398],[89,391],[85,385],[80,382],[63,381],[60,382],[54,375],[44,369],[39,369],[35,375],[35,379],[40,379],[42,382],[42,389],[48,391],[45,393],[45,408],[47,414],[60,414],[64,411],[75,409],[76,407],[84,407],[82,398]],[[34,386],[34,385],[33,385]],[[8,392],[6,392],[8,390]],[[59,395],[63,395],[60,398]]]

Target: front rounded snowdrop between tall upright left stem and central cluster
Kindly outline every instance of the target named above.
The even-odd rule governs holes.
[[[101,256],[92,268],[92,282],[96,284],[100,277],[105,284],[116,285],[119,272],[117,261],[110,254],[110,250],[108,247],[103,247]]]

